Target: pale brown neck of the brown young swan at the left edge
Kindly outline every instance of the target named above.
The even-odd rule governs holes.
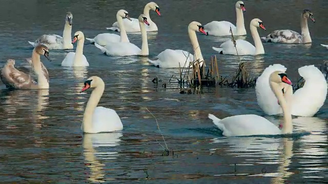
[[[35,50],[32,52],[32,65],[35,74],[37,75],[37,86],[39,89],[49,89],[48,80],[42,70],[40,55]]]

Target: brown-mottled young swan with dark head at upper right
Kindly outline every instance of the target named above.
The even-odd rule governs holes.
[[[308,18],[315,22],[311,10],[305,9],[301,14],[302,35],[292,30],[276,30],[271,32],[267,37],[261,37],[261,39],[264,42],[274,43],[311,43],[312,40],[308,28]]]

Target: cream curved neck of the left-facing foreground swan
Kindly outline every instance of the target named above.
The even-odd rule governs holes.
[[[94,113],[94,109],[97,107],[101,96],[103,96],[105,90],[104,81],[99,81],[96,88],[93,89],[89,101],[87,103],[87,107],[83,114],[83,123],[82,123],[82,131],[86,133],[94,133],[92,126],[92,117]]]

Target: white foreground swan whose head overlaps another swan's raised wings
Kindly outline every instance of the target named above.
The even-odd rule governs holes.
[[[273,72],[268,80],[271,90],[279,99],[280,106],[283,110],[283,126],[280,130],[269,120],[255,114],[243,114],[238,116],[227,117],[222,120],[209,114],[213,123],[223,131],[224,136],[247,136],[247,135],[276,135],[293,132],[292,115],[279,84],[284,82],[292,85],[286,74],[281,71]]]

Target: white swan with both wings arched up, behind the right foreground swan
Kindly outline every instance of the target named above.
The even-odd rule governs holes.
[[[274,71],[286,71],[286,67],[281,64],[273,64],[265,68],[263,73],[256,80],[256,99],[260,108],[269,115],[282,112],[277,99],[271,90],[268,90],[268,79],[270,73]],[[307,65],[298,68],[298,73],[304,78],[303,87],[293,94],[291,86],[282,85],[280,88],[284,92],[284,97],[291,107],[294,116],[312,117],[323,106],[327,95],[327,82],[321,71],[314,65]]]

